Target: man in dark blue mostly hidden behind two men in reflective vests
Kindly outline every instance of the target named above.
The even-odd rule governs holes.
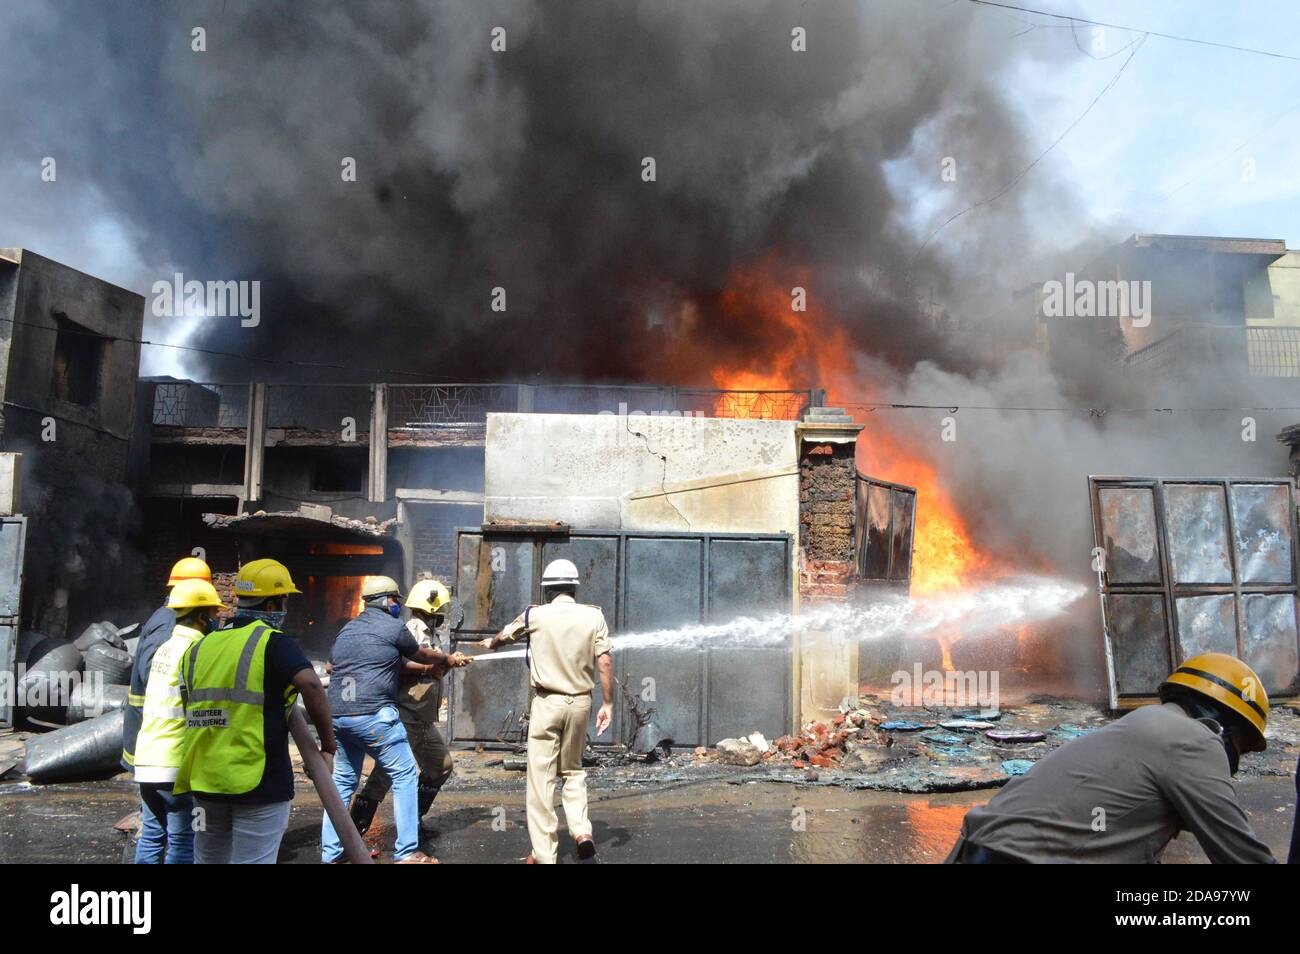
[[[198,556],[182,556],[168,573],[166,586],[170,591],[177,584],[187,580],[212,582],[212,571]],[[168,606],[169,599],[153,611],[140,628],[135,642],[135,659],[131,663],[131,682],[127,689],[126,708],[122,712],[122,768],[135,771],[135,745],[140,725],[144,721],[144,691],[150,681],[150,667],[159,646],[172,638],[176,630],[176,610]],[[143,793],[142,793],[143,794]],[[153,807],[157,802],[153,803]],[[140,799],[140,837],[135,842],[136,864],[161,864],[164,858],[172,864],[187,864],[191,858],[188,845],[188,807],[182,806],[159,816],[153,807]]]

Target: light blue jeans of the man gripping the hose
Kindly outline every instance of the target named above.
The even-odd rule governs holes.
[[[420,769],[407,742],[406,727],[396,706],[385,706],[364,716],[335,716],[334,738],[339,753],[334,756],[334,788],[346,806],[352,801],[361,780],[365,756],[372,756],[393,780],[393,815],[398,825],[398,842],[393,857],[402,860],[420,847]],[[338,833],[325,815],[321,823],[321,860],[329,864],[343,854]]]

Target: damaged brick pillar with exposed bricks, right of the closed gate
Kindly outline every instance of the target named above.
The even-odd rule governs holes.
[[[810,408],[798,425],[802,607],[846,600],[852,593],[861,430],[840,408]],[[805,630],[796,686],[801,723],[832,717],[845,697],[857,698],[857,641]]]

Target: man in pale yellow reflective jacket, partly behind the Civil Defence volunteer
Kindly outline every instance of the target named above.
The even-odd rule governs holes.
[[[181,659],[203,638],[225,606],[212,584],[192,578],[173,585],[166,608],[176,613],[176,625],[172,638],[150,652],[140,730],[133,746],[135,781],[148,814],[165,825],[166,863],[190,864],[194,860],[194,799],[172,793],[185,742]]]

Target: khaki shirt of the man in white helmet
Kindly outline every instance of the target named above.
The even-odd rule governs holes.
[[[516,616],[497,641],[510,643],[525,634],[529,636],[529,685],[566,695],[590,693],[595,685],[595,658],[614,649],[601,607],[576,603],[566,594]]]

